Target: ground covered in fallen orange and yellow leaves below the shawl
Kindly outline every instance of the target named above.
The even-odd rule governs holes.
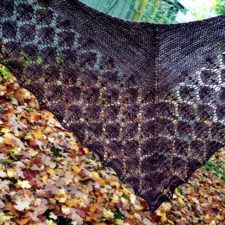
[[[0,225],[210,224],[225,221],[225,151],[150,214],[0,66]]]

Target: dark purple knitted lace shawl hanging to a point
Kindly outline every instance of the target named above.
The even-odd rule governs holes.
[[[224,146],[224,27],[2,0],[0,63],[154,211]]]

